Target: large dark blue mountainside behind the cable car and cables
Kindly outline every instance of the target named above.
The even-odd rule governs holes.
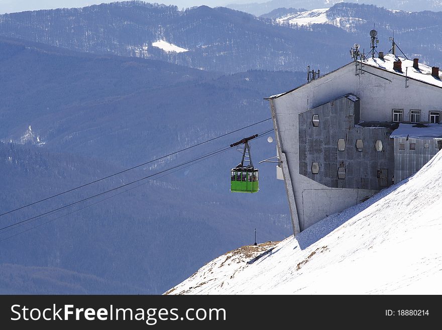
[[[304,80],[288,71],[216,75],[11,39],[0,41],[0,51],[0,213],[269,118],[263,97]],[[271,122],[0,217],[0,224],[267,129]],[[252,143],[255,163],[275,154],[266,137]],[[231,150],[78,212],[63,216],[100,198],[0,232],[0,292],[161,293],[217,255],[253,243],[255,228],[259,242],[290,235],[274,164],[260,166],[259,193],[229,191],[240,157]]]

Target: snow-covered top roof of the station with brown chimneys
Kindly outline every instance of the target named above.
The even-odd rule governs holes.
[[[402,72],[393,70],[393,62],[401,61],[402,62]],[[413,68],[413,61],[407,60],[403,57],[399,57],[393,54],[384,55],[384,59],[380,58],[367,58],[363,60],[362,63],[364,65],[369,65],[378,69],[382,69],[385,71],[393,72],[396,74],[403,75],[405,77],[405,72],[407,73],[407,77],[413,80],[422,81],[437,87],[442,87],[442,80],[439,78],[435,78],[431,75],[431,66],[428,66],[423,63],[419,63],[419,69],[416,70]],[[408,70],[406,68],[408,67]],[[439,76],[441,76],[441,72],[439,70]]]

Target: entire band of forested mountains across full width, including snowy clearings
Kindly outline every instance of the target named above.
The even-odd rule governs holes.
[[[430,64],[442,60],[435,47],[442,32],[440,13],[339,3],[316,22],[305,14],[307,21],[320,23],[308,26],[294,25],[286,11],[281,14],[285,17],[265,19],[222,7],[179,11],[135,1],[0,15],[0,35],[223,73],[305,71],[307,65],[327,72],[351,61],[348,52],[355,42],[368,49],[368,33],[375,26],[378,50],[388,52],[394,31],[405,54]]]

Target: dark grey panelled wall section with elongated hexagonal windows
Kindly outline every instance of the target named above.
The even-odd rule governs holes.
[[[380,190],[391,184],[394,172],[391,130],[355,127],[360,101],[354,99],[341,97],[299,114],[299,173],[330,188]],[[313,115],[319,118],[318,127],[312,125]],[[343,151],[338,150],[339,139],[345,141]],[[362,151],[356,148],[358,139],[363,141]],[[382,142],[381,152],[376,151],[377,140]],[[319,164],[317,174],[312,173],[313,162]],[[345,179],[338,178],[339,167],[345,168]],[[380,169],[387,173],[388,184],[377,177]]]

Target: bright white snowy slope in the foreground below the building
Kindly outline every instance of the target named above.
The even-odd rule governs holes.
[[[229,252],[167,293],[441,294],[441,174],[438,153],[411,178],[296,238],[249,256],[241,251],[257,247]]]

